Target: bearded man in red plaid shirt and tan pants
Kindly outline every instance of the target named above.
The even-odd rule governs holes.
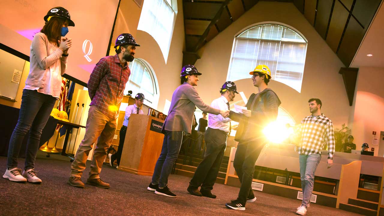
[[[119,35],[114,46],[116,55],[101,58],[89,76],[88,94],[92,102],[89,105],[91,107],[88,111],[84,139],[71,164],[68,179],[71,186],[84,188],[81,175],[86,168],[89,152],[96,142],[86,183],[99,188],[110,187],[100,179],[99,174],[116,132],[123,91],[131,75],[128,65],[134,60],[136,47],[139,46],[131,34]]]

